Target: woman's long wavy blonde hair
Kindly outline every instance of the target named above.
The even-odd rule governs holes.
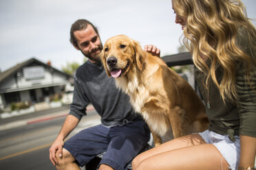
[[[249,43],[256,39],[255,27],[246,16],[243,3],[239,0],[173,0],[173,8],[176,14],[186,18],[183,42],[195,66],[207,75],[206,90],[211,78],[224,101],[235,101],[237,62],[245,61],[248,65],[244,71],[247,82],[252,80],[250,71],[255,66],[255,56],[247,56],[236,42],[239,27],[246,28]],[[218,67],[223,73],[221,81],[215,74]]]

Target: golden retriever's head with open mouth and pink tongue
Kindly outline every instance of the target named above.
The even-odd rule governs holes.
[[[127,74],[134,66],[142,70],[144,59],[145,53],[139,43],[125,35],[109,38],[101,56],[107,75],[115,78]]]

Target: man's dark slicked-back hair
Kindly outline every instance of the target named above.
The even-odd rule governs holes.
[[[94,31],[96,32],[96,34],[98,34],[98,29],[94,27],[94,25],[91,22],[87,21],[86,19],[78,19],[76,22],[72,24],[70,29],[70,42],[74,46],[78,47],[76,37],[74,36],[74,32],[86,29],[88,25],[92,25],[92,27],[94,28]]]

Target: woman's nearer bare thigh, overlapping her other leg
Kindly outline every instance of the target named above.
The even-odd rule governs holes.
[[[226,169],[228,163],[212,144],[193,145],[156,154],[140,162],[138,169]],[[137,170],[138,170],[137,169]]]

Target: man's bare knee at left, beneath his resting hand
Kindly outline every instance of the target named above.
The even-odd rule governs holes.
[[[70,154],[70,152],[67,151],[67,149],[65,149],[65,148],[63,148],[62,156],[60,157],[60,156],[58,156],[58,154],[56,154],[56,158],[58,160],[56,169],[63,169],[63,167],[75,162],[74,156],[72,156],[72,154]]]

